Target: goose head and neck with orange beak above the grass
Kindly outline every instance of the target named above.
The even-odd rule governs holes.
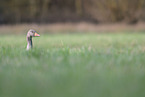
[[[32,37],[40,36],[35,30],[30,29],[27,33],[27,48],[26,50],[30,50],[33,47]]]

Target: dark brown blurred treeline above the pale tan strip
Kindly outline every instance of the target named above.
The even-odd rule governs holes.
[[[145,21],[145,0],[0,0],[0,24]]]

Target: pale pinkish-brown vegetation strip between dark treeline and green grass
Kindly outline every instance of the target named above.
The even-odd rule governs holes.
[[[35,29],[39,33],[109,33],[109,32],[143,32],[145,24],[91,24],[91,23],[55,23],[55,24],[21,24],[1,25],[1,34],[25,34],[29,29]]]

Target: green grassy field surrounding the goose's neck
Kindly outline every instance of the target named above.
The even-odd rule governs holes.
[[[0,36],[0,97],[144,97],[145,34]]]

